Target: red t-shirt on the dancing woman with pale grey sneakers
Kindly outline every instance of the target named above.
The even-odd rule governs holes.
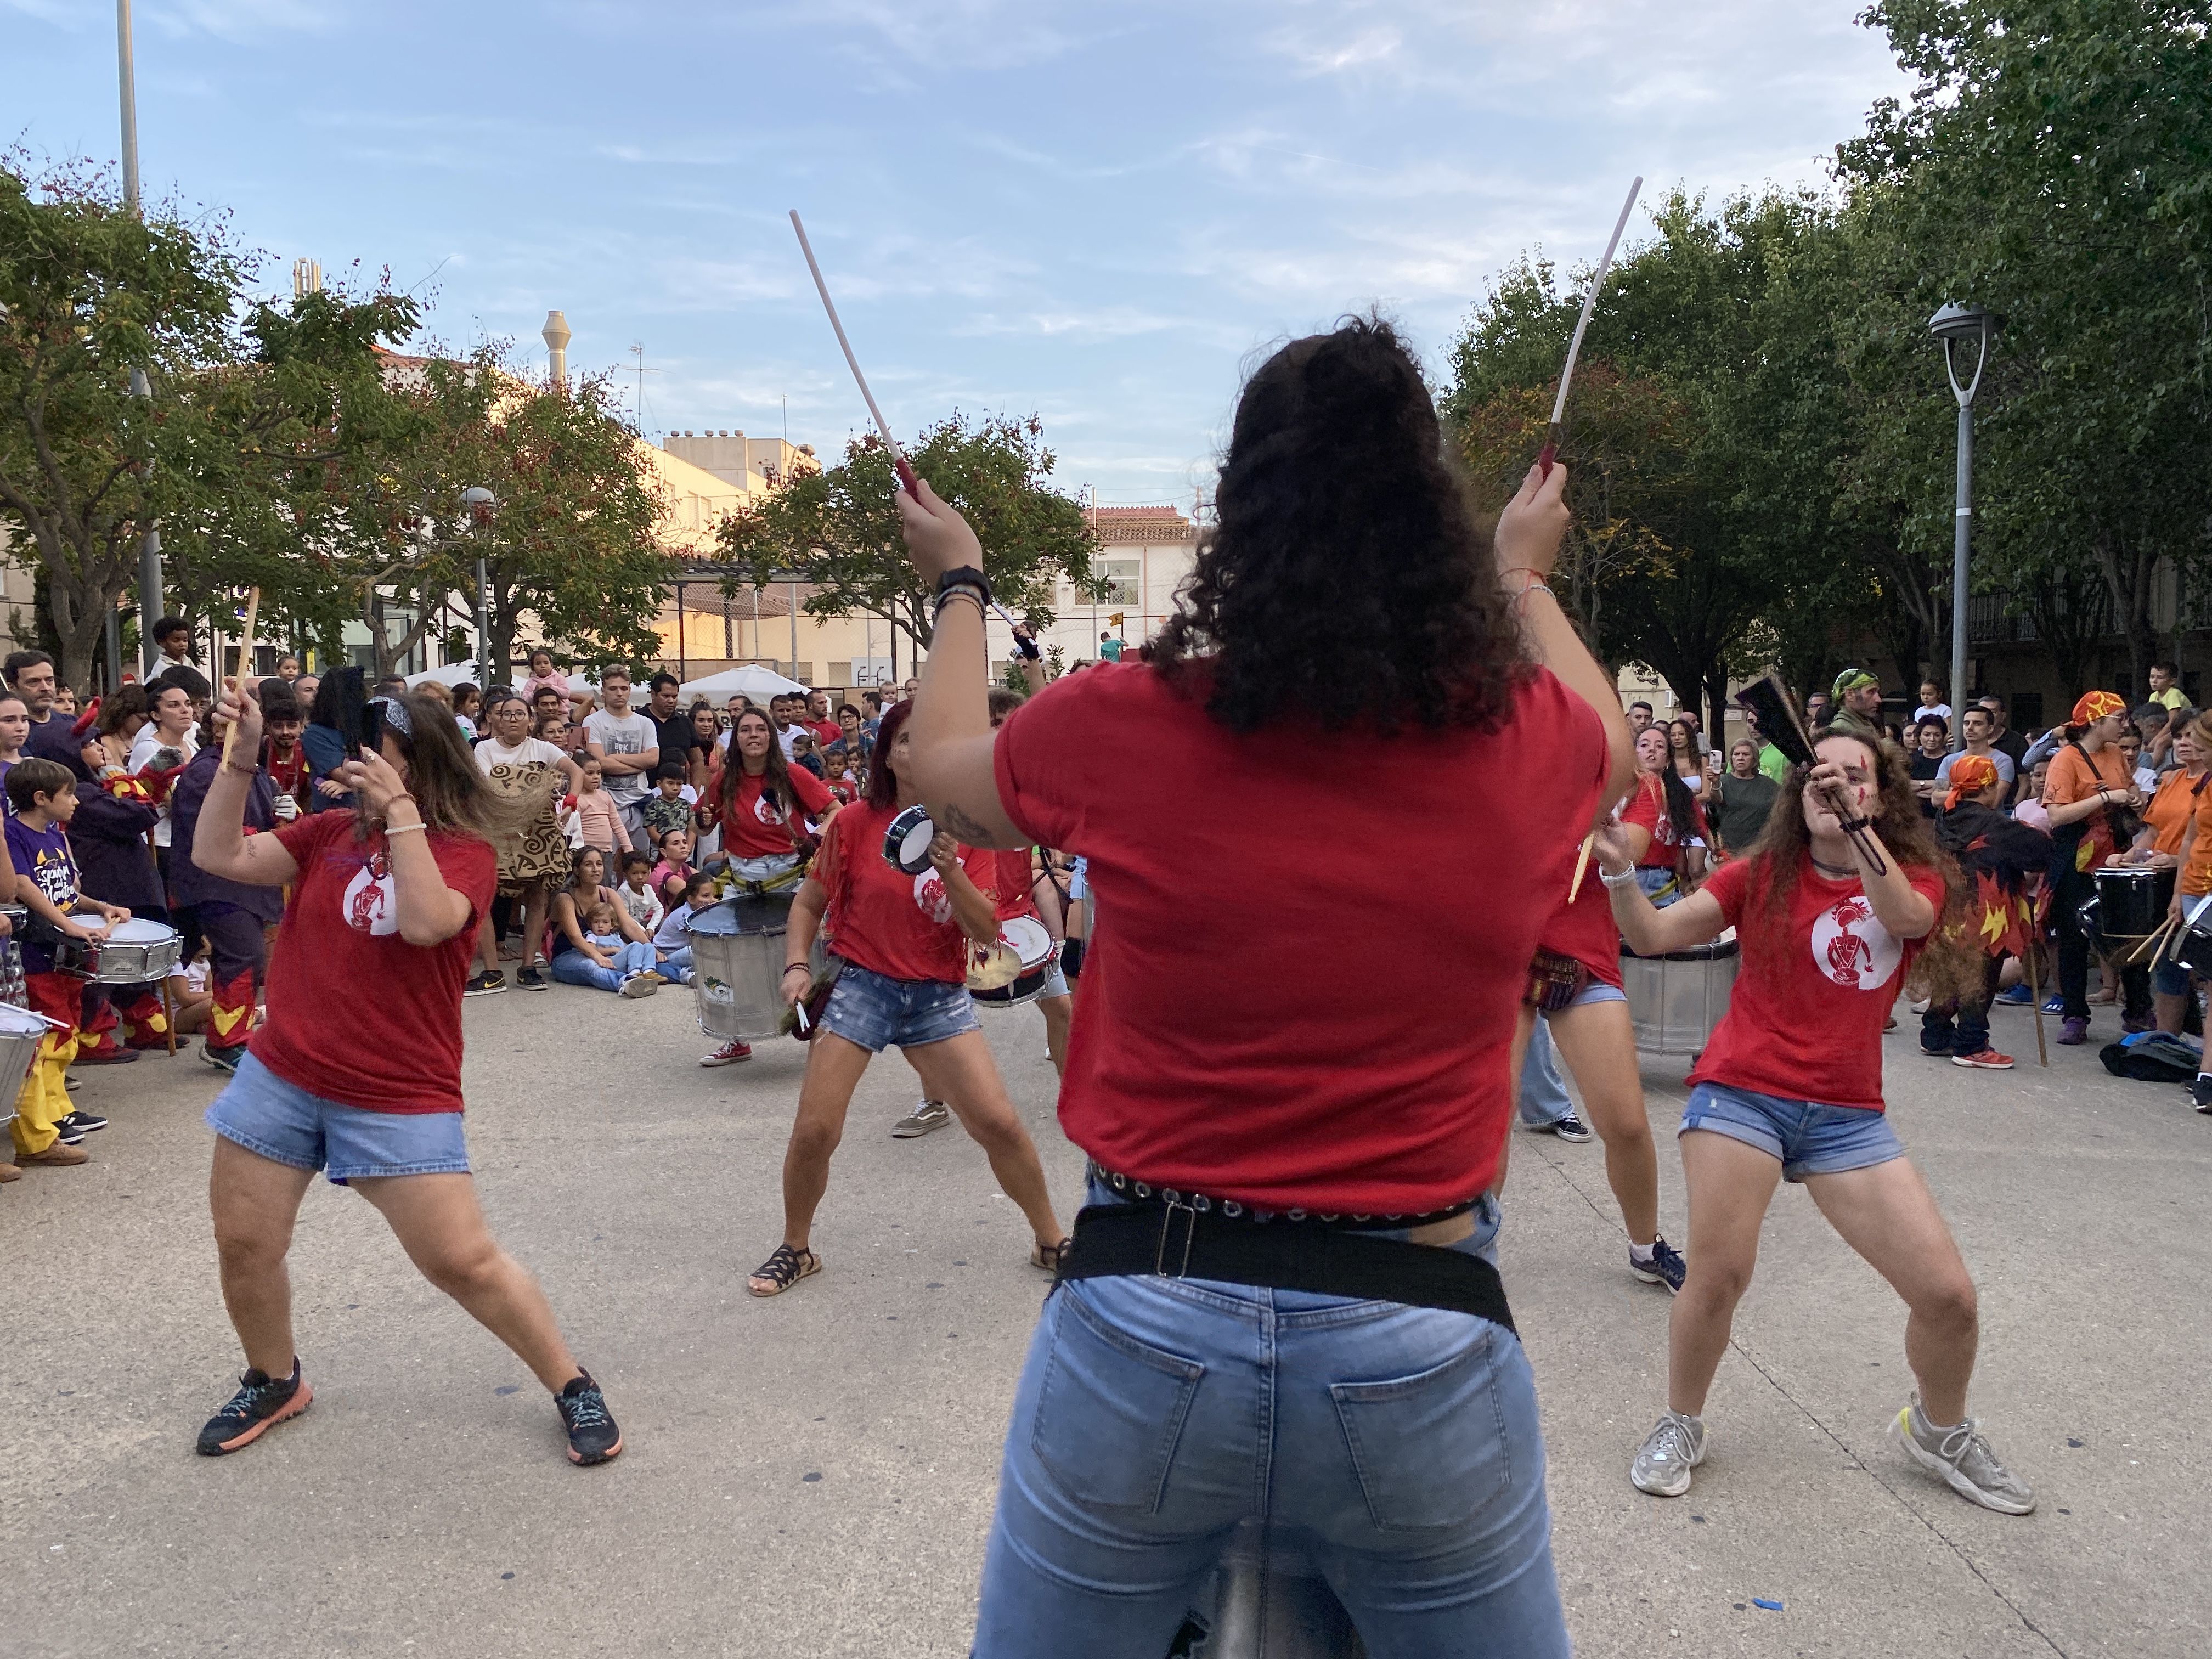
[[[1858,876],[1798,872],[1787,916],[1765,902],[1765,858],[1730,858],[1699,889],[1721,900],[1743,960],[1728,1013],[1690,1073],[1754,1095],[1882,1110],[1882,1020],[1924,940],[1898,940],[1874,918]],[[1942,916],[1942,876],[1905,872]]]

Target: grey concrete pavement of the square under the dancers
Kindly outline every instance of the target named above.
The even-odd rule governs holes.
[[[1794,1188],[1694,1491],[1630,1489],[1666,1296],[1626,1274],[1601,1148],[1515,1135],[1504,1272],[1579,1652],[2212,1652],[2212,1119],[2106,1077],[2095,1048],[2039,1073],[2026,1011],[2000,1015],[2026,1057],[2006,1075],[1920,1060],[1911,1024],[1889,1040],[1891,1108],[1982,1287],[1975,1411],[2039,1511],[1971,1509],[1887,1449],[1902,1307]],[[1042,1022],[987,1026],[1073,1208]],[[1044,1290],[980,1152],[958,1130],[887,1139],[916,1088],[878,1060],[816,1230],[827,1270],[759,1303],[743,1279],[779,1237],[799,1044],[703,1071],[679,989],[482,998],[467,1031],[484,1208],[626,1453],[571,1469],[520,1363],[316,1183],[292,1254],[316,1405],[197,1458],[239,1367],[204,1203],[221,1079],[197,1055],[93,1071],[77,1099],[113,1117],[93,1161],[0,1190],[0,1655],[964,1652]],[[1679,1077],[1646,1064],[1677,1241]]]

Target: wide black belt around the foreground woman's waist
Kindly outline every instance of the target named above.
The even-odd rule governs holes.
[[[1053,1283],[1146,1276],[1442,1307],[1513,1329],[1498,1270],[1462,1250],[1343,1228],[1267,1225],[1166,1199],[1086,1203]]]

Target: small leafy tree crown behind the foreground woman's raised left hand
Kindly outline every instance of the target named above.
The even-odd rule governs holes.
[[[907,460],[975,529],[991,591],[1011,613],[1035,628],[1051,626],[1062,580],[1104,597],[1104,584],[1091,575],[1097,542],[1082,507],[1046,482],[1055,456],[1044,447],[1042,420],[989,416],[969,422],[951,414],[922,431]],[[883,440],[854,438],[843,462],[792,478],[750,511],[723,520],[717,535],[728,560],[748,566],[754,584],[805,582],[812,588],[807,615],[863,611],[927,650],[931,591],[907,562],[896,489]]]

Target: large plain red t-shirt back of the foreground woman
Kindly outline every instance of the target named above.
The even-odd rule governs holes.
[[[1597,710],[1535,672],[1495,732],[1239,734],[1194,692],[1097,664],[998,734],[1009,816],[1097,894],[1062,1126],[1110,1170],[1267,1208],[1464,1203],[1597,812]]]

